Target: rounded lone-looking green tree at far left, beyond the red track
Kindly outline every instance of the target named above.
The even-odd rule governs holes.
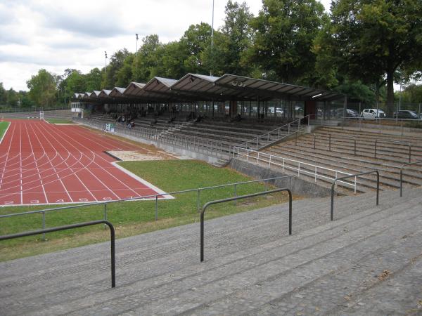
[[[56,79],[53,74],[45,69],[38,71],[38,74],[27,81],[30,89],[29,97],[35,105],[49,106],[56,103]]]

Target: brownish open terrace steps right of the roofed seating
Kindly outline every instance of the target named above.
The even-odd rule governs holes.
[[[329,169],[335,169],[346,173],[359,173],[377,169],[380,172],[381,189],[399,187],[399,171],[402,164],[409,162],[409,150],[406,145],[397,143],[383,143],[383,141],[409,141],[400,136],[383,135],[369,131],[360,132],[352,129],[324,127],[315,131],[316,143],[314,149],[314,136],[304,134],[297,140],[291,139],[278,145],[263,150],[268,154],[278,157],[297,160],[314,164]],[[331,136],[331,150],[328,145]],[[357,140],[356,155],[354,154],[354,138]],[[374,158],[375,140],[377,154]],[[382,140],[382,141],[381,141]],[[411,162],[422,160],[422,138],[411,138]],[[274,162],[281,159],[274,159]],[[286,161],[286,166],[293,166]],[[404,171],[404,183],[410,185],[422,185],[422,164],[407,166]],[[275,168],[275,166],[274,166]],[[314,182],[312,173],[314,169],[306,165],[303,170],[309,171],[309,175],[301,175],[304,179]],[[320,171],[325,176],[335,177],[333,172]],[[287,173],[289,173],[287,169]],[[291,172],[295,173],[295,172]],[[376,188],[374,174],[358,178],[359,191],[367,192]],[[352,179],[351,179],[352,180]],[[330,187],[332,180],[319,179],[319,184]]]

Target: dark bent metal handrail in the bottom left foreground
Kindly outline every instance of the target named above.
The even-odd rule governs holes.
[[[1,240],[14,239],[32,235],[45,234],[46,232],[58,232],[59,230],[70,230],[72,228],[80,228],[91,225],[106,224],[110,228],[110,249],[111,249],[111,287],[116,287],[116,260],[115,260],[115,229],[113,224],[107,220],[92,220],[91,222],[77,223],[72,225],[64,225],[44,230],[31,230],[29,232],[19,232],[18,234],[0,236]]]

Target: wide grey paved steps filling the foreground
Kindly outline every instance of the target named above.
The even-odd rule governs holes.
[[[337,197],[0,263],[1,315],[398,315],[418,311],[420,188]],[[206,217],[206,216],[205,216]],[[419,310],[420,311],[420,310]]]

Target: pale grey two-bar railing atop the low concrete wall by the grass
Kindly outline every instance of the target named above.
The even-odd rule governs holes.
[[[241,147],[237,147],[237,146],[234,146],[234,157],[236,157],[236,149],[237,149],[237,157],[246,157],[246,160],[248,160],[249,157],[252,157],[252,156],[250,156],[249,153],[250,152],[251,153],[252,152],[255,152],[255,153],[257,153],[257,157],[252,157],[252,158],[253,159],[256,159],[257,162],[262,161],[264,163],[268,163],[268,166],[269,167],[271,167],[271,164],[273,164],[275,166],[280,166],[282,168],[282,171],[284,171],[284,169],[290,169],[290,170],[293,170],[293,171],[297,171],[298,172],[298,176],[300,176],[300,173],[301,172],[302,173],[309,174],[309,175],[313,175],[315,177],[315,182],[316,182],[316,178],[325,178],[325,179],[328,179],[328,180],[333,180],[334,179],[333,177],[323,176],[321,174],[318,174],[317,173],[318,170],[332,171],[332,172],[335,173],[335,178],[337,178],[338,173],[342,173],[342,174],[345,174],[347,176],[351,176],[352,175],[352,173],[347,173],[347,172],[344,172],[344,171],[338,171],[338,170],[335,170],[335,169],[329,169],[329,168],[326,168],[326,167],[323,167],[323,166],[317,166],[315,164],[308,164],[307,162],[300,162],[298,160],[293,160],[293,159],[289,159],[289,158],[285,158],[285,157],[281,157],[281,156],[276,156],[274,154],[267,154],[266,152],[258,152],[257,150],[250,150],[248,148],[241,148]],[[245,150],[246,153],[245,154],[240,154],[239,153],[239,150]],[[267,156],[268,157],[268,161],[260,158],[262,156],[264,156],[264,157]],[[271,157],[275,157],[276,159],[277,158],[278,159],[282,159],[283,160],[283,164],[277,164],[276,162],[271,161]],[[298,168],[294,168],[293,166],[286,166],[285,162],[297,163],[298,164]],[[310,171],[306,171],[306,170],[300,169],[300,166],[301,165],[312,167],[314,169],[314,172],[310,172]],[[352,184],[347,183],[345,181],[340,181],[340,182],[343,183],[344,185],[350,185],[351,187],[353,187],[354,188],[354,192],[356,193],[356,190],[357,190],[356,183],[354,183],[354,185],[352,185]]]

